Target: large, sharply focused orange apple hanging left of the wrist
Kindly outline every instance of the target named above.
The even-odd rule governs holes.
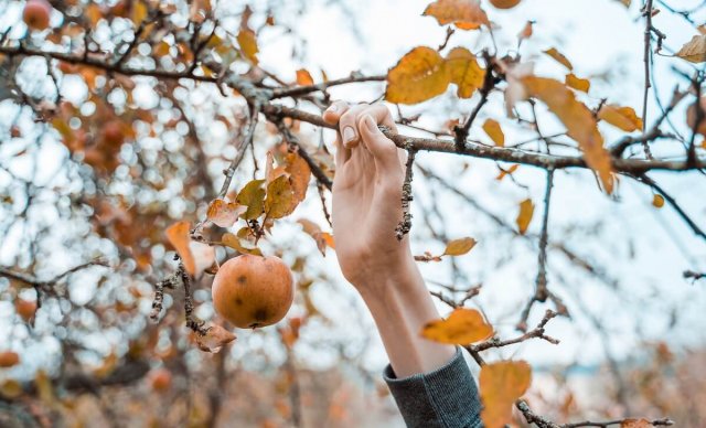
[[[211,292],[215,311],[240,329],[277,323],[295,299],[289,267],[278,257],[249,254],[223,264]]]

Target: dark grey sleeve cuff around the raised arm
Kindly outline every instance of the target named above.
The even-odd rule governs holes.
[[[478,388],[460,347],[434,372],[397,378],[387,365],[383,376],[407,427],[483,427]]]

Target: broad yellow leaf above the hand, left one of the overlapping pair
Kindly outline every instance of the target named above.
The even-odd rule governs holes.
[[[417,104],[443,94],[449,86],[449,69],[431,47],[415,47],[387,72],[385,99]]]

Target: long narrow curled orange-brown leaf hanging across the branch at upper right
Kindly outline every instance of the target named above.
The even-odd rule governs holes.
[[[567,135],[575,139],[607,193],[613,191],[610,153],[603,147],[603,137],[598,131],[591,110],[576,100],[574,93],[560,82],[552,78],[528,76],[522,79],[526,95],[541,99],[561,120]]]

